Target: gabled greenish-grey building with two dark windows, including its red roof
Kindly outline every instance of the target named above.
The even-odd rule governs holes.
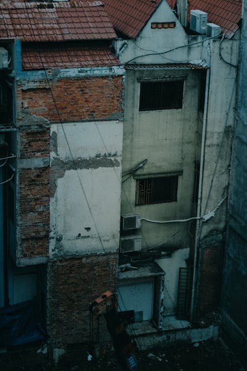
[[[164,315],[193,320],[219,305],[241,4],[223,16],[224,1],[190,1],[206,30],[205,19],[189,27],[183,2],[184,27],[171,2],[139,6],[139,17],[138,3],[105,3],[126,69],[121,210],[141,221],[123,231],[120,250],[126,262],[131,238],[131,263],[155,260],[165,271]]]

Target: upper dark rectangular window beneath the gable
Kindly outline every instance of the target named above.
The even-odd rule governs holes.
[[[139,111],[182,108],[183,88],[183,80],[141,83]]]

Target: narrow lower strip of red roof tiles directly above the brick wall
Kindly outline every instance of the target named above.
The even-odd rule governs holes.
[[[48,43],[47,43],[48,44]],[[81,46],[79,43],[22,44],[23,70],[116,66],[120,62],[108,46]]]

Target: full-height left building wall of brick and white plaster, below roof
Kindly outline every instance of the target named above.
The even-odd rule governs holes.
[[[17,66],[13,257],[19,266],[30,265],[27,273],[47,263],[41,286],[49,342],[58,348],[89,341],[88,304],[116,290],[123,72],[113,66],[48,70],[45,76]],[[106,333],[104,322],[100,329]]]

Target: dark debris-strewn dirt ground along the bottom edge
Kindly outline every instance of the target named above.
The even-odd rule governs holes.
[[[0,371],[123,371],[113,352],[105,352],[91,361],[87,356],[78,347],[54,366],[38,358],[27,361],[18,353],[11,357],[5,354],[0,356]],[[138,358],[140,371],[246,371],[221,340],[156,347],[140,351]]]

